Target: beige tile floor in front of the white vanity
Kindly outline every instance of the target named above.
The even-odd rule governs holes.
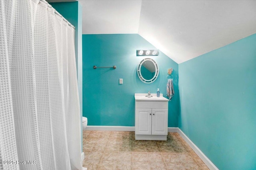
[[[208,170],[178,133],[137,141],[134,132],[83,131],[83,150],[88,170]]]

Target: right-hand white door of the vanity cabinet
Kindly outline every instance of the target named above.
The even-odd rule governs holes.
[[[152,109],[152,135],[168,134],[168,109]]]

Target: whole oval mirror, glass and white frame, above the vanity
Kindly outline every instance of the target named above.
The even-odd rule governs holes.
[[[137,73],[142,82],[152,83],[158,77],[158,65],[153,59],[143,59],[138,65]]]

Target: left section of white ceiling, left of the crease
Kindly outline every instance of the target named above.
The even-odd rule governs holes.
[[[138,33],[141,0],[80,0],[83,34]]]

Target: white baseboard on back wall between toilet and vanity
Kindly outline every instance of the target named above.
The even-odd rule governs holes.
[[[135,131],[135,126],[91,126],[88,125],[86,131]]]

